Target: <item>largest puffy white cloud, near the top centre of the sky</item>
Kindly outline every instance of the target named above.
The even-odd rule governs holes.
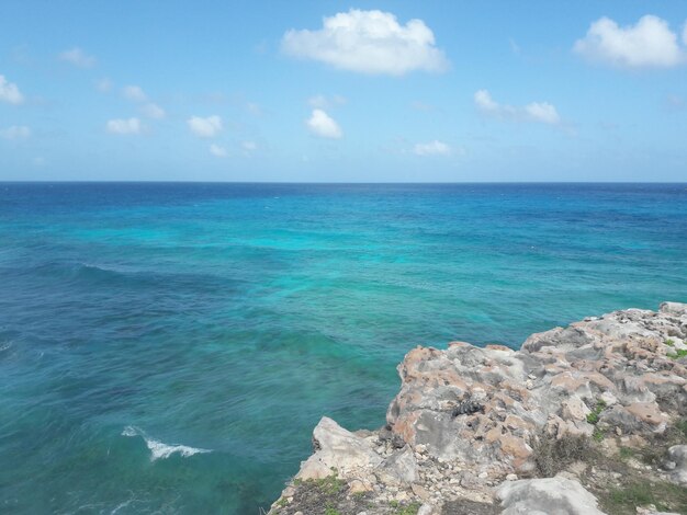
[[[390,12],[351,9],[323,20],[317,31],[288,31],[282,52],[342,70],[402,76],[409,71],[443,71],[448,59],[421,20],[401,25]]]

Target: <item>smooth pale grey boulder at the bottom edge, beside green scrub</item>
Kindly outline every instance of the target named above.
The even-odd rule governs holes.
[[[604,515],[582,484],[560,477],[506,481],[496,496],[503,515]]]

